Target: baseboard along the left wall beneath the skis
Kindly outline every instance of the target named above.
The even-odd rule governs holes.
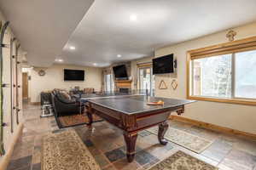
[[[20,122],[19,126],[17,127],[17,131],[14,134],[13,141],[9,146],[9,150],[6,152],[6,154],[3,156],[2,160],[0,161],[0,170],[6,170],[9,161],[11,159],[11,156],[15,149],[15,144],[17,143],[18,139],[20,138],[23,130],[23,122]]]

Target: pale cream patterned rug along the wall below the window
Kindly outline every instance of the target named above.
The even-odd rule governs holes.
[[[158,127],[152,127],[148,129],[148,132],[158,134]],[[186,133],[182,130],[169,127],[165,138],[172,141],[175,144],[179,144],[189,150],[195,151],[196,153],[201,153],[206,150],[212,144],[212,141],[203,139],[201,137],[195,136],[191,133]]]

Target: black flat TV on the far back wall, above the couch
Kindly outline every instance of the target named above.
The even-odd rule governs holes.
[[[64,81],[84,81],[84,71],[64,69]]]

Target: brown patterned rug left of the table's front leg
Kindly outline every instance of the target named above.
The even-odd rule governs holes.
[[[101,169],[73,129],[46,135],[42,151],[42,170]]]

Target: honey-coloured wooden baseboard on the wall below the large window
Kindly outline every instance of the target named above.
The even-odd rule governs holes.
[[[207,122],[195,121],[193,119],[189,119],[189,118],[186,118],[186,117],[183,117],[183,116],[174,116],[174,115],[172,115],[169,118],[171,120],[174,120],[174,121],[187,122],[187,123],[193,124],[193,125],[198,126],[198,127],[204,127],[204,128],[207,128],[207,129],[211,129],[213,131],[218,131],[218,132],[221,132],[221,133],[229,133],[229,134],[238,135],[238,136],[241,136],[241,137],[256,140],[256,134],[253,134],[253,133],[246,133],[246,132],[235,130],[235,129],[232,129],[232,128],[229,128],[229,127],[221,127],[221,126],[214,125],[214,124],[207,123]]]

